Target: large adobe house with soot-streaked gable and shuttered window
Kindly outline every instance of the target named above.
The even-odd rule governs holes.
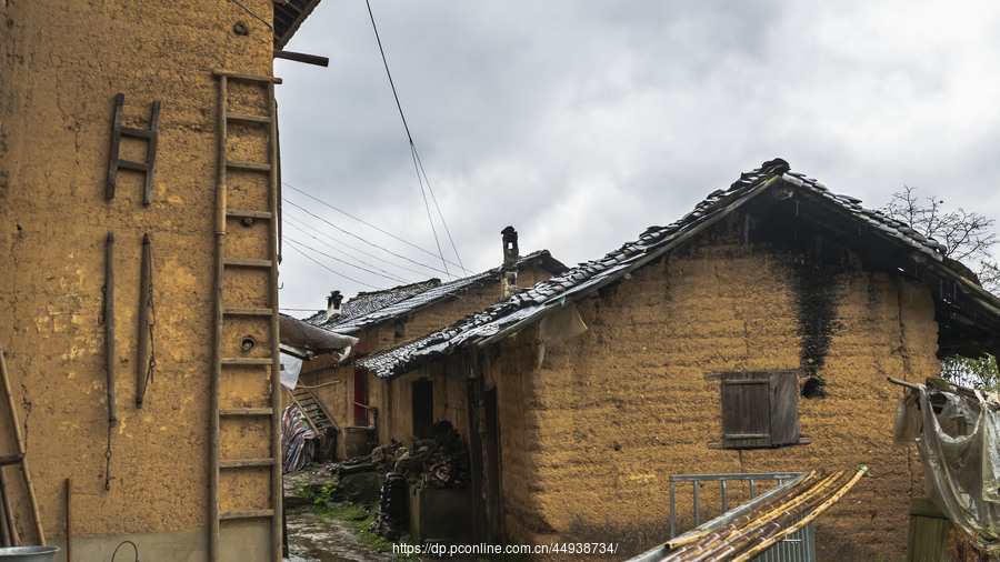
[[[892,444],[886,379],[994,352],[1000,301],[940,243],[859,203],[766,162],[682,219],[357,367],[400,405],[381,422],[391,436],[411,432],[422,387],[431,421],[470,438],[482,540],[616,542],[624,558],[669,538],[671,474],[863,463],[874,478],[816,522],[819,555],[899,559],[922,469]]]

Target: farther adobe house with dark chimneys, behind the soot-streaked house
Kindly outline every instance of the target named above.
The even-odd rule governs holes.
[[[474,275],[441,282],[431,279],[383,291],[359,293],[342,302],[339,291],[327,299],[328,308],[306,322],[358,338],[353,357],[363,357],[411,341],[510,297],[518,287],[534,284],[566,271],[566,265],[547,250],[519,255],[518,233],[512,227],[501,232],[503,262]],[[388,443],[390,433],[380,422],[391,397],[367,371],[340,364],[329,354],[308,358],[302,363],[296,393],[323,404],[339,430],[337,456],[366,454],[370,442]]]

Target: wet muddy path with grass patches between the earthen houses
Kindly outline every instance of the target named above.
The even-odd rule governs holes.
[[[284,496],[296,496],[299,484],[322,483],[330,479],[330,468],[313,466],[284,475]],[[307,504],[289,508],[289,562],[386,562],[391,554],[374,552],[342,521],[317,515]]]

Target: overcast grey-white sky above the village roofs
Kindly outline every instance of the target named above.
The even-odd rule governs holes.
[[[776,157],[866,207],[909,184],[1000,218],[994,1],[372,0],[372,10],[471,272],[499,265],[508,224],[522,254],[599,258]],[[443,269],[364,1],[323,0],[286,49],[330,66],[274,64],[281,307],[448,279],[427,268]]]

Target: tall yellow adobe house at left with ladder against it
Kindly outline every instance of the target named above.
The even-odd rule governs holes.
[[[281,559],[272,74],[317,3],[0,2],[0,344],[37,502],[2,471],[24,544]]]

